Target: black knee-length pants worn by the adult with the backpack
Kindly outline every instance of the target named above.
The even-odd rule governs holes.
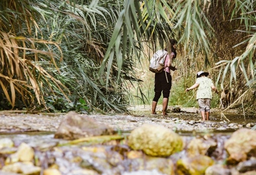
[[[155,74],[155,96],[153,101],[158,102],[163,93],[164,98],[169,98],[172,87],[172,76],[168,72],[160,72]]]

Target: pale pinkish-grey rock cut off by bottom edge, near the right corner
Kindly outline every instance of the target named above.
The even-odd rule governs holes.
[[[205,175],[239,175],[239,172],[222,164],[214,164],[205,170]]]

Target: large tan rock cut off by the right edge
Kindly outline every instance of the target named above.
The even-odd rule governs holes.
[[[256,156],[256,131],[242,128],[233,132],[231,137],[225,142],[224,148],[229,154],[228,164],[236,164]]]

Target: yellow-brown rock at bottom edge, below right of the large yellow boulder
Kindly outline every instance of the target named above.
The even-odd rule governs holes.
[[[205,155],[183,157],[177,161],[178,174],[201,175],[207,167],[214,164],[214,160]]]

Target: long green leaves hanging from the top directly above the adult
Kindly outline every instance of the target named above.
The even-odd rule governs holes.
[[[172,26],[169,20],[170,17],[167,16],[163,8],[163,4],[167,4],[166,1],[162,1],[163,4],[158,1],[156,3],[155,1],[143,1],[142,4],[138,1],[124,2],[124,8],[118,16],[113,35],[99,70],[98,78],[102,76],[105,67],[107,67],[106,85],[114,58],[117,61],[118,81],[122,68],[122,60],[126,57],[125,52],[132,52],[140,59],[138,52],[144,51],[141,39],[146,39],[147,42],[153,41],[154,43],[158,43],[156,41],[158,38],[163,48],[164,41],[168,37],[174,36],[170,28]],[[165,10],[170,12],[168,14],[172,14],[173,12],[168,6]],[[154,32],[156,28],[158,32]],[[126,45],[126,48],[130,48],[130,50],[127,51],[125,50],[126,48],[122,47]]]

